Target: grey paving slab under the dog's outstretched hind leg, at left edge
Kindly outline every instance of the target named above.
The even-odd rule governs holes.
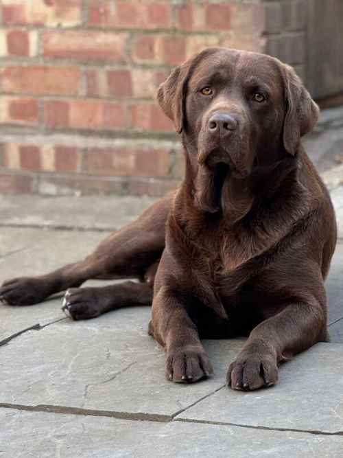
[[[80,236],[74,231],[1,228],[0,284],[13,277],[41,275],[80,260],[104,237],[106,233],[99,232],[84,232]],[[93,281],[85,286],[106,283],[109,282]],[[45,325],[64,318],[60,308],[61,299],[52,298],[42,304],[21,308],[0,304],[0,340],[37,323]]]

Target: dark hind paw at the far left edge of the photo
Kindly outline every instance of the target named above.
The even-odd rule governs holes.
[[[4,282],[0,288],[0,301],[9,306],[31,306],[48,295],[43,280],[38,278],[14,278]]]

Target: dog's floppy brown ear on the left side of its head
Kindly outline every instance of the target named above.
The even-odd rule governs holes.
[[[161,108],[172,121],[177,133],[182,132],[186,126],[185,104],[189,78],[200,60],[215,54],[220,48],[207,48],[196,54],[180,67],[174,69],[167,80],[157,90],[157,100]]]

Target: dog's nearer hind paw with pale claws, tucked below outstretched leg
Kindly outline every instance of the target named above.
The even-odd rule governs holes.
[[[62,310],[73,320],[99,317],[102,311],[96,288],[69,288],[63,297]]]

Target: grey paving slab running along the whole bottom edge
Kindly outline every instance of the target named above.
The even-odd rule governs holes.
[[[0,410],[0,457],[333,458],[343,437]]]

